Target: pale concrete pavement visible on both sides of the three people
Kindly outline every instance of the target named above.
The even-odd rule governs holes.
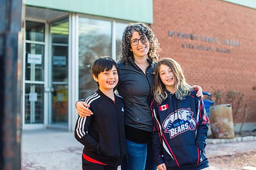
[[[83,145],[74,138],[74,132],[53,129],[22,131],[22,169],[81,169],[82,149]],[[207,144],[206,147],[209,158],[251,151],[256,151],[256,141]]]

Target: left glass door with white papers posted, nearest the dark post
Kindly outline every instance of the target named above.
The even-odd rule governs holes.
[[[44,124],[45,23],[26,21],[24,126]]]

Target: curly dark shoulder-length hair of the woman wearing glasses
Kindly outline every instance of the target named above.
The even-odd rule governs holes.
[[[123,31],[120,62],[123,64],[127,64],[127,58],[131,56],[133,57],[133,52],[131,52],[132,47],[130,40],[134,31],[137,31],[140,36],[147,37],[148,42],[150,43],[150,50],[148,51],[147,57],[152,59],[152,61],[158,61],[161,48],[157,37],[155,36],[151,28],[145,25],[145,23],[137,22],[130,23]]]

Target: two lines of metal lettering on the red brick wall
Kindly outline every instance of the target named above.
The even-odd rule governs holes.
[[[209,52],[219,52],[219,53],[227,53],[231,54],[229,46],[240,46],[241,42],[238,40],[230,40],[230,39],[223,39],[219,37],[210,37],[210,36],[199,36],[198,34],[190,34],[190,33],[182,33],[182,32],[174,32],[169,31],[169,36],[172,38],[179,38],[184,40],[192,40],[194,42],[203,42],[206,43],[204,45],[199,45],[196,43],[182,43],[181,47],[183,48],[190,48],[190,49],[196,49],[196,50],[203,50],[203,51],[209,51]],[[216,47],[213,46],[214,44],[222,44],[226,45],[227,47]]]

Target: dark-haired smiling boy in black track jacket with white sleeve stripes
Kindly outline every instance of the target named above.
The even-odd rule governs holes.
[[[84,145],[82,169],[117,169],[126,156],[124,106],[122,98],[114,93],[117,65],[110,57],[100,57],[92,71],[99,89],[86,102],[94,114],[79,116],[75,127],[75,138]]]

